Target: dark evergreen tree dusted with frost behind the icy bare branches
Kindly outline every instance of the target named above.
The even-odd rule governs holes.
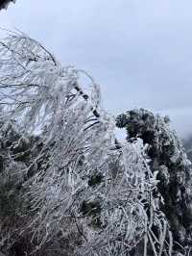
[[[126,128],[127,141],[140,138],[148,146],[151,170],[158,171],[157,189],[163,197],[160,209],[169,219],[174,249],[186,255],[192,246],[192,167],[178,135],[169,126],[169,117],[135,109],[118,115],[116,124]]]

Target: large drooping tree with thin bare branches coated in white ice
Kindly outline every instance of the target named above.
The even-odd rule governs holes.
[[[0,41],[5,254],[123,256],[142,244],[144,256],[172,255],[146,148],[115,140],[100,100],[92,77],[36,40]]]

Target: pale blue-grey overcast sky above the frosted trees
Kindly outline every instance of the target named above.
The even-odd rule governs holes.
[[[17,0],[0,25],[87,70],[110,113],[147,108],[192,134],[191,0]]]

